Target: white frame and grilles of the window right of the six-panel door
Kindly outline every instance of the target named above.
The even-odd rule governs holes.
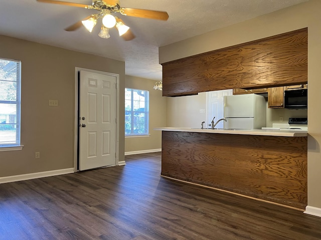
[[[125,91],[130,89],[130,92],[131,92],[131,95],[130,95],[130,109],[131,110],[126,110],[126,104],[125,104],[125,137],[142,137],[142,136],[149,136],[149,91],[148,90],[144,90],[144,89],[137,89],[137,88],[131,88],[131,87],[125,87]],[[134,91],[142,91],[142,92],[145,92],[145,96],[144,96],[144,102],[145,102],[145,105],[144,105],[144,110],[143,111],[137,111],[137,110],[134,110],[133,108],[133,92]],[[125,102],[126,100],[129,100],[129,99],[126,99],[126,94],[125,94]],[[126,133],[126,124],[127,124],[127,121],[126,121],[126,112],[130,112],[130,132],[131,133]],[[134,133],[134,114],[137,114],[137,113],[144,113],[144,129],[145,131],[143,133]]]

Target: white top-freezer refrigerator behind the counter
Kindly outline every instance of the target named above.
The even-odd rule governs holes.
[[[224,128],[261,129],[265,127],[266,100],[258,94],[224,97]]]

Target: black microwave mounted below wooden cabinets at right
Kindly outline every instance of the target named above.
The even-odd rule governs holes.
[[[284,107],[291,109],[307,108],[307,88],[285,90]]]

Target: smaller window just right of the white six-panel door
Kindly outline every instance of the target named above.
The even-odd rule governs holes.
[[[125,88],[125,135],[148,134],[149,91]]]

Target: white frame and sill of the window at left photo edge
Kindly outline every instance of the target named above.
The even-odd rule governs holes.
[[[12,151],[12,150],[21,150],[23,145],[21,145],[21,61],[15,59],[9,59],[0,57],[1,61],[11,61],[16,62],[17,67],[17,77],[16,77],[16,100],[0,100],[1,104],[15,104],[16,105],[16,114],[14,123],[16,125],[16,142],[15,143],[0,143],[0,151]],[[8,78],[0,78],[0,82],[9,81]],[[7,123],[8,124],[8,123]],[[0,130],[1,131],[1,130]]]

